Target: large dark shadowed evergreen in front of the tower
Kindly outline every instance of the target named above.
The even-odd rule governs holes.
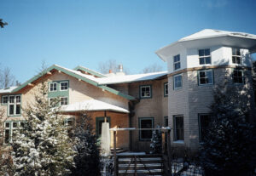
[[[255,167],[255,128],[247,122],[248,99],[242,94],[247,92],[226,85],[214,91],[212,121],[200,156],[207,176],[244,176]]]

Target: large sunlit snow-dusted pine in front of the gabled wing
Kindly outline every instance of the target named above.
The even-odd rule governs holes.
[[[42,82],[35,103],[25,110],[25,127],[20,128],[13,139],[15,175],[71,173],[75,152],[56,104],[57,100],[49,105],[47,87]]]

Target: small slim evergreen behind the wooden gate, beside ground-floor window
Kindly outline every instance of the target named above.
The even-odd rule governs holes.
[[[157,129],[154,129],[152,132],[152,139],[150,144],[151,154],[160,154],[162,150],[162,133],[159,125],[156,128]]]

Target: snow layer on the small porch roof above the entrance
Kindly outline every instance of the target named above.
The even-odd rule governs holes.
[[[117,111],[129,113],[125,108],[121,108],[116,105],[110,105],[106,102],[97,99],[88,99],[82,102],[74,103],[71,105],[63,105],[61,111],[73,112],[73,111]]]

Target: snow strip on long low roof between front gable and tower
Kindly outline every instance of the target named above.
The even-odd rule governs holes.
[[[144,73],[137,75],[123,75],[123,76],[113,76],[113,77],[101,77],[97,78],[96,81],[99,84],[114,84],[114,83],[125,83],[125,82],[141,82],[141,81],[149,81],[154,80],[158,77],[165,76],[168,71],[160,71],[154,73]]]

